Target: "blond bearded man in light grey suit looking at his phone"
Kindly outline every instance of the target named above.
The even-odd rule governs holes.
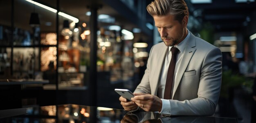
[[[132,101],[119,98],[124,110],[140,107],[168,115],[213,115],[221,87],[220,49],[193,36],[186,28],[189,11],[184,0],[155,0],[147,10],[163,42],[151,48],[145,74]],[[173,58],[177,60],[169,65],[176,51]],[[169,66],[175,66],[172,75],[168,75]]]

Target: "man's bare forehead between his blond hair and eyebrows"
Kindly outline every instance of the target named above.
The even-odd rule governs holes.
[[[166,25],[173,25],[178,22],[175,19],[174,15],[168,14],[164,16],[153,16],[155,21],[155,26],[166,26]]]

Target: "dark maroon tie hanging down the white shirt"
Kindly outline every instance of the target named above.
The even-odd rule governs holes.
[[[179,49],[176,47],[171,48],[172,51],[172,58],[171,62],[168,68],[168,73],[167,73],[167,78],[166,78],[166,83],[165,83],[165,89],[164,89],[164,99],[171,99],[171,89],[173,85],[173,74],[174,74],[174,69],[175,69],[175,64],[176,64],[176,59],[177,59],[177,53],[179,52]]]

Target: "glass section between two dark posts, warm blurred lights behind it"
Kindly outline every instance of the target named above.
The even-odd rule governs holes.
[[[90,16],[84,0],[60,3],[58,22],[59,89],[86,89],[90,61]],[[74,9],[77,8],[77,9]]]

